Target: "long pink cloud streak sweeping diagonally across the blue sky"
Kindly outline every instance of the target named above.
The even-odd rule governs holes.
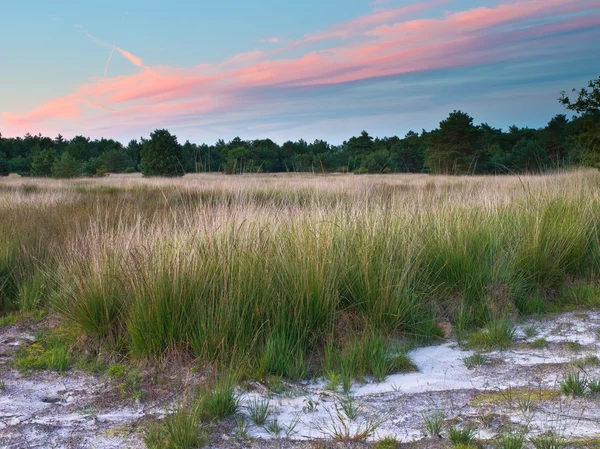
[[[92,79],[67,96],[23,114],[3,113],[2,118],[9,133],[15,133],[61,121],[85,123],[90,128],[118,118],[119,126],[133,126],[186,115],[227,113],[243,107],[241,98],[255,88],[335,84],[502,61],[527,54],[527,39],[600,25],[600,15],[594,14],[600,0],[522,0],[406,20],[408,15],[442,3],[375,11],[307,35],[286,48],[297,50],[326,39],[337,43],[294,57],[284,57],[285,49],[255,50],[218,64],[178,69],[147,67],[140,57],[114,47],[144,70]],[[545,20],[533,20],[540,18]],[[276,38],[271,39],[275,43]],[[110,57],[106,67],[109,62]]]

